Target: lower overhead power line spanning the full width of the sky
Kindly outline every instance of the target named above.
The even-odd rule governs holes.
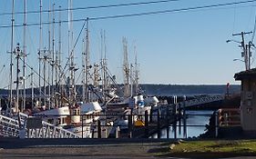
[[[108,16],[98,16],[98,17],[90,17],[90,21],[96,21],[96,20],[106,20],[106,19],[115,19],[115,18],[125,18],[125,17],[132,17],[132,16],[141,16],[141,15],[159,15],[159,14],[169,14],[169,13],[179,13],[179,12],[185,12],[185,11],[193,11],[193,10],[200,10],[200,9],[209,9],[209,8],[216,8],[221,6],[228,6],[228,5],[242,5],[242,4],[248,4],[256,2],[256,0],[248,0],[248,1],[241,1],[241,2],[233,2],[233,3],[227,3],[227,4],[218,4],[218,5],[203,5],[203,6],[195,6],[195,7],[188,7],[188,8],[181,8],[181,9],[171,9],[171,10],[162,10],[162,11],[154,11],[154,12],[144,12],[144,13],[137,13],[137,14],[128,14],[128,15],[108,15]],[[81,19],[75,19],[72,20],[72,22],[84,22],[87,18],[81,18]],[[55,23],[68,23],[67,20],[55,22]],[[42,25],[49,25],[52,24],[52,22],[44,22]],[[31,25],[40,25],[39,23],[30,23],[26,24],[26,26]],[[23,24],[14,25],[15,27],[23,26]],[[5,27],[11,27],[11,25],[0,25],[0,28]]]

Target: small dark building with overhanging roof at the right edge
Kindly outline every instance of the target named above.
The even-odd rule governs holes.
[[[245,133],[256,134],[256,68],[234,75],[241,81],[241,127]]]

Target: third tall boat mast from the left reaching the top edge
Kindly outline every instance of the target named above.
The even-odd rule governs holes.
[[[38,64],[38,72],[39,72],[39,107],[41,107],[41,101],[42,101],[42,88],[41,88],[41,50],[42,50],[42,35],[43,35],[43,28],[42,28],[42,0],[40,0],[40,26],[39,26],[39,30],[40,30],[40,35],[39,35],[39,52],[38,52],[38,56],[39,56],[39,64]],[[44,77],[45,80],[45,77]],[[45,93],[45,92],[44,92]]]

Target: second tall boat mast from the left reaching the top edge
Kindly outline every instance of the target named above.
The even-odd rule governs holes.
[[[23,31],[23,106],[21,112],[26,109],[26,0],[24,0],[24,31]]]

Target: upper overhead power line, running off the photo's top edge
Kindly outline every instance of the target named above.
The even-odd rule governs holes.
[[[168,3],[168,2],[176,2],[181,0],[161,0],[161,1],[149,1],[149,2],[139,2],[139,3],[131,3],[131,4],[119,4],[119,5],[99,5],[99,6],[87,6],[87,7],[77,7],[77,8],[63,8],[56,9],[56,12],[62,11],[76,11],[76,10],[88,10],[88,9],[101,9],[101,8],[110,8],[110,7],[120,7],[120,6],[131,6],[131,5],[151,5],[151,4],[160,4],[160,3]],[[51,12],[50,10],[43,10],[42,13]],[[27,11],[26,14],[39,14],[40,11]],[[15,12],[15,15],[23,15],[24,12]],[[0,15],[12,15],[12,13],[2,13]]]

